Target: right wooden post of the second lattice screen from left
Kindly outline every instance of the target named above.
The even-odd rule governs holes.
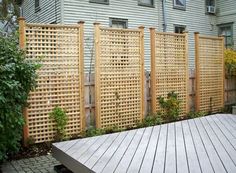
[[[145,86],[145,72],[144,72],[144,26],[140,26],[140,60],[141,60],[141,120],[144,119],[145,114],[145,92],[144,92],[144,86]]]

